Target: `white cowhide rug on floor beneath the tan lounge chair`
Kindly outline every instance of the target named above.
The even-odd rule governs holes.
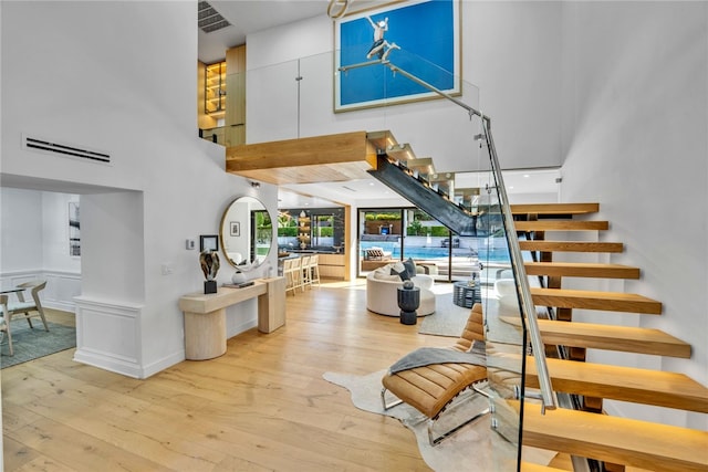
[[[384,373],[385,370],[381,370],[366,376],[325,373],[323,378],[350,390],[352,402],[356,408],[400,420],[406,428],[409,428],[415,433],[420,455],[434,471],[488,472],[516,470],[500,465],[500,462],[504,461],[501,459],[502,457],[514,458],[516,451],[512,444],[491,430],[491,417],[489,415],[467,424],[435,448],[430,447],[428,443],[427,419],[415,408],[402,403],[384,411],[381,403],[381,379]],[[470,397],[472,397],[471,392],[461,394],[452,406],[442,413],[436,424],[436,436],[440,431],[444,432],[456,424],[460,424],[467,418],[473,417],[477,412],[488,407],[488,400],[485,397],[480,395],[473,396],[473,398]],[[548,464],[554,454],[538,451],[533,455],[533,462]],[[524,460],[529,459],[524,448]]]

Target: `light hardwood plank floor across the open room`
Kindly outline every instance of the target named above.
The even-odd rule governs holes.
[[[361,281],[287,303],[283,328],[146,380],[74,363],[73,349],[3,369],[4,470],[429,470],[405,427],[322,374],[368,374],[450,338],[368,313]]]

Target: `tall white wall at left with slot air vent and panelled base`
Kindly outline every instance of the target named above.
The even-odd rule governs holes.
[[[195,24],[194,2],[2,2],[1,177],[82,193],[77,322],[92,323],[76,356],[136,377],[184,359],[177,301],[204,281],[185,240],[216,234],[238,196],[277,207],[273,186],[226,174],[223,148],[197,137]],[[25,150],[22,133],[105,150],[112,165]],[[256,325],[242,305],[230,334]]]

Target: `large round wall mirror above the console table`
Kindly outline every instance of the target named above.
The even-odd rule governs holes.
[[[237,269],[250,270],[268,258],[273,240],[273,223],[266,206],[253,197],[233,200],[221,217],[221,251]]]

